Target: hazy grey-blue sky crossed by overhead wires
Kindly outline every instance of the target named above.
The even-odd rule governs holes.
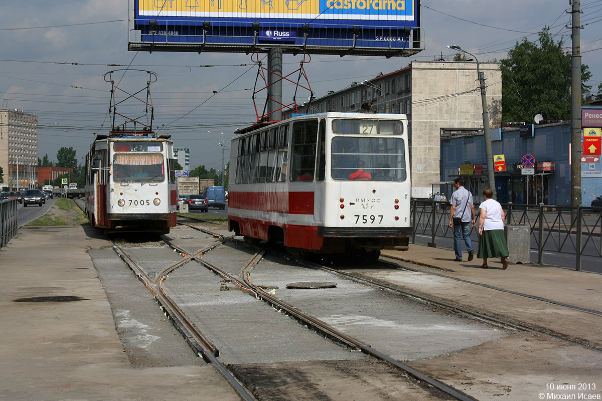
[[[108,133],[111,70],[125,90],[151,84],[160,134],[176,147],[190,148],[191,168],[220,169],[234,130],[256,121],[252,93],[258,69],[250,55],[231,53],[128,51],[128,7],[132,0],[29,0],[2,4],[0,12],[0,109],[22,109],[38,116],[39,157],[56,161],[72,146],[78,162],[95,133]],[[312,55],[305,71],[315,97],[341,90],[408,66],[412,61],[452,60],[457,44],[479,62],[501,60],[517,41],[536,41],[550,26],[556,41],[571,49],[569,0],[422,0],[424,50],[412,57]],[[582,63],[592,73],[592,93],[602,81],[602,0],[580,2]],[[299,68],[301,55],[284,55],[283,72]],[[283,103],[292,85],[283,85]],[[297,100],[303,102],[299,94]],[[258,108],[265,97],[258,94]],[[134,110],[143,114],[140,110]],[[118,121],[119,123],[119,121]],[[209,132],[208,132],[209,131]],[[226,161],[229,154],[226,150]]]

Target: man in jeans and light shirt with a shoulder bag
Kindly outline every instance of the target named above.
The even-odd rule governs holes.
[[[450,228],[453,228],[454,251],[456,253],[455,262],[462,262],[462,238],[466,243],[468,252],[468,262],[473,260],[473,241],[470,239],[470,229],[474,227],[474,203],[473,194],[464,188],[464,180],[457,178],[454,180],[456,191],[450,197]]]

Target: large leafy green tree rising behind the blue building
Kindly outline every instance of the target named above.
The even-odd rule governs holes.
[[[516,44],[501,60],[501,103],[503,121],[568,120],[571,116],[571,54],[564,41],[554,42],[547,26],[539,32],[539,46],[527,38]],[[591,87],[589,67],[582,65],[582,94]]]

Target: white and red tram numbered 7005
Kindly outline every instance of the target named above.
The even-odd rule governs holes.
[[[169,233],[176,225],[173,142],[153,132],[97,135],[85,158],[85,213],[107,232]]]

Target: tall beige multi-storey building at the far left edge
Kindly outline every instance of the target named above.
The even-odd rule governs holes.
[[[22,110],[0,110],[0,166],[11,191],[37,182],[38,118]]]

